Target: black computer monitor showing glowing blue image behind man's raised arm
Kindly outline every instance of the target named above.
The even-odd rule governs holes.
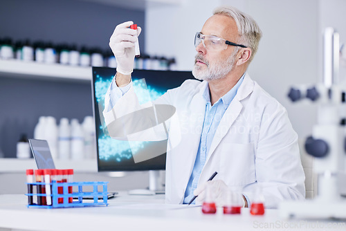
[[[104,123],[102,121],[103,116],[100,117],[100,113],[102,115],[102,110],[104,109],[104,95],[115,73],[115,68],[93,67],[93,111],[96,126],[98,171],[122,172],[165,169],[165,153],[139,163],[135,163],[133,158],[132,152],[134,150],[152,150],[156,145],[156,141],[138,142],[116,140],[107,134],[107,127],[102,124]],[[145,81],[143,81],[143,79],[145,79]],[[136,92],[140,103],[145,103],[148,100],[156,100],[156,98],[163,95],[168,89],[178,87],[188,79],[194,79],[191,71],[135,70],[132,73],[133,86],[134,89],[138,90]],[[144,89],[143,82],[146,84]],[[167,145],[167,140],[164,142]]]

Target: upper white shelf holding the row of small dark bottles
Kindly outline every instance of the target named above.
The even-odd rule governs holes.
[[[90,66],[67,66],[62,64],[24,62],[17,59],[0,59],[0,77],[90,82],[92,72]]]

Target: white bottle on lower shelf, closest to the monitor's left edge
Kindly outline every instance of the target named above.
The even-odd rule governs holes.
[[[86,159],[96,158],[95,153],[95,124],[92,116],[86,116],[83,124],[84,131],[84,154]]]

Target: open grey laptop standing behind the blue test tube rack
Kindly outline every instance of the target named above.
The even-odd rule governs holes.
[[[47,140],[29,139],[29,145],[35,158],[37,169],[55,169],[51,149],[49,149]],[[116,194],[118,192],[109,192],[107,197],[113,198]],[[73,198],[78,199],[78,197]],[[83,196],[83,199],[93,200],[93,197]],[[101,200],[102,196],[99,196],[98,199]]]

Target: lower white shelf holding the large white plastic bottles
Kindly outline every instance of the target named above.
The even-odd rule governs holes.
[[[58,169],[74,169],[75,172],[98,172],[98,162],[96,159],[89,160],[54,160]],[[21,173],[26,169],[37,169],[33,158],[0,158],[0,173]]]

